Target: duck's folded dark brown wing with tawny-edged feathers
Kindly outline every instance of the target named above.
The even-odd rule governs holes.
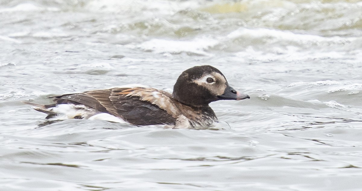
[[[109,113],[136,125],[174,124],[176,118],[166,110],[141,100],[143,95],[130,95],[131,92],[145,91],[145,88],[113,88],[94,90],[78,94],[54,96],[56,103],[83,104],[98,111]],[[155,89],[148,90],[149,92]],[[168,95],[168,94],[167,94]],[[169,95],[168,95],[169,96]]]

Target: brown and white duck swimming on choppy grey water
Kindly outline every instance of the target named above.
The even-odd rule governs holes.
[[[250,97],[232,88],[217,68],[202,65],[182,72],[172,93],[130,84],[49,98],[53,103],[48,105],[25,103],[47,114],[49,121],[98,119],[136,126],[199,129],[212,127],[218,122],[209,103]]]

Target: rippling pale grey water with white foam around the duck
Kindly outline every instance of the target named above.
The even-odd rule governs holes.
[[[1,191],[359,191],[357,0],[0,2]],[[211,104],[232,130],[68,120],[22,101],[140,83],[194,65],[251,99]]]

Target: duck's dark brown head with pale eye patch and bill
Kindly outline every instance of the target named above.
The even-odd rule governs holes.
[[[172,96],[181,103],[194,107],[222,99],[250,98],[230,87],[225,76],[210,65],[195,66],[182,72],[173,86]]]

